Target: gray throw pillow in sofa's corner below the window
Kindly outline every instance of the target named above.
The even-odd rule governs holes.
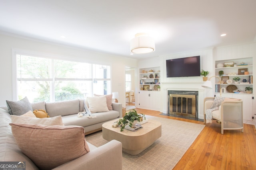
[[[23,115],[30,110],[33,112],[27,97],[17,102],[6,100],[6,105],[8,107],[8,112],[11,115]]]

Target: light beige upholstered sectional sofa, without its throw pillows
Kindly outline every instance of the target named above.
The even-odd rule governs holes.
[[[97,116],[96,118],[78,118],[77,113],[73,113],[73,111],[77,110],[77,108],[71,108],[71,105],[73,104],[75,104],[79,108],[78,111],[83,111],[83,100],[72,100],[49,104],[46,103],[45,109],[46,111],[48,109],[49,115],[51,117],[54,116],[54,114],[62,115],[64,125],[82,126],[84,127],[85,131],[87,131],[87,133],[99,130],[102,123],[104,123],[105,121],[117,119],[118,117],[122,116],[122,105],[118,103],[113,103],[114,110],[110,111],[109,113],[93,113]],[[39,106],[42,107],[42,103],[32,104],[33,109],[43,109]],[[12,135],[11,126],[9,125],[9,123],[12,122],[11,115],[8,113],[7,110],[8,109],[6,106],[0,107],[0,161],[25,161],[26,169],[37,170],[38,167],[32,162],[30,158],[22,153],[22,151],[16,144],[16,141]],[[68,115],[68,112],[71,114]],[[54,169],[122,169],[122,143],[116,140],[112,140],[98,148],[90,143],[88,143],[88,146],[90,148],[90,152],[74,160],[66,162]]]

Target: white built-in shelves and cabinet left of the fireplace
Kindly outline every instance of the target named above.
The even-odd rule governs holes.
[[[138,108],[160,111],[160,67],[139,69]]]

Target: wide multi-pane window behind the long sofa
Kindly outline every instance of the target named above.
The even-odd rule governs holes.
[[[110,94],[110,66],[16,55],[18,100],[57,102]]]

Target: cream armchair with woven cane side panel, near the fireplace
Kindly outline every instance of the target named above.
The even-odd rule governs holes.
[[[206,109],[210,109],[214,98],[204,98],[204,123],[206,122]],[[243,101],[241,99],[225,98],[217,110],[212,111],[212,118],[221,121],[221,134],[224,130],[242,129],[243,126]]]

